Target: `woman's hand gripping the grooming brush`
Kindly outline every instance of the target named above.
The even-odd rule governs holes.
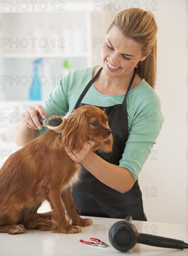
[[[25,118],[26,121],[24,121],[25,125],[28,126],[31,129],[39,130],[42,128],[42,125],[39,122],[39,118],[45,118],[45,110],[44,108],[37,104],[35,106],[32,106],[28,108],[25,112]]]

